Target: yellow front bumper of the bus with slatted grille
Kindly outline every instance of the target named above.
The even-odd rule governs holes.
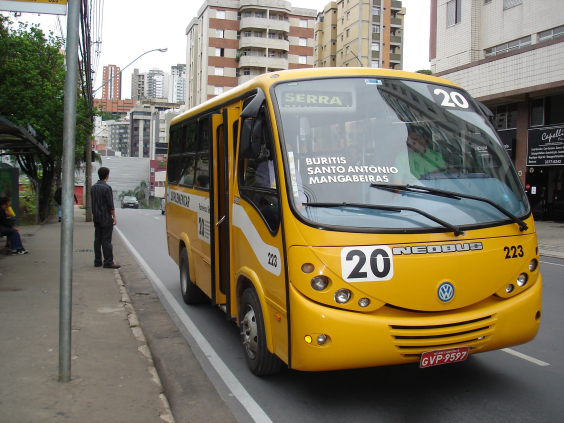
[[[421,353],[470,346],[470,354],[531,341],[540,325],[542,277],[523,293],[492,296],[442,313],[384,306],[372,313],[327,307],[290,284],[292,361],[295,370],[326,371],[419,362]],[[318,346],[320,334],[328,341]],[[307,343],[309,335],[313,342]]]

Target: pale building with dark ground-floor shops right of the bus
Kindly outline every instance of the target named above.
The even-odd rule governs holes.
[[[431,0],[431,69],[495,115],[537,217],[564,190],[564,2]]]

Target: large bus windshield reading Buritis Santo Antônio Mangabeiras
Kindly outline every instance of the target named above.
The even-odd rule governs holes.
[[[436,219],[456,226],[506,220],[499,208],[515,216],[529,212],[503,145],[463,90],[395,78],[329,78],[280,83],[273,97],[289,196],[306,221],[430,229],[444,226]],[[458,192],[499,208],[386,185]]]

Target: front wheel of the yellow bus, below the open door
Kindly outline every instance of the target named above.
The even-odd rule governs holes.
[[[241,297],[239,308],[241,342],[245,360],[251,372],[257,376],[278,372],[282,361],[266,348],[264,318],[258,295],[254,288],[247,288]]]

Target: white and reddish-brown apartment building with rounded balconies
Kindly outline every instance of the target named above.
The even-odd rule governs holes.
[[[206,0],[186,29],[186,104],[256,75],[313,66],[316,11],[281,0]]]

